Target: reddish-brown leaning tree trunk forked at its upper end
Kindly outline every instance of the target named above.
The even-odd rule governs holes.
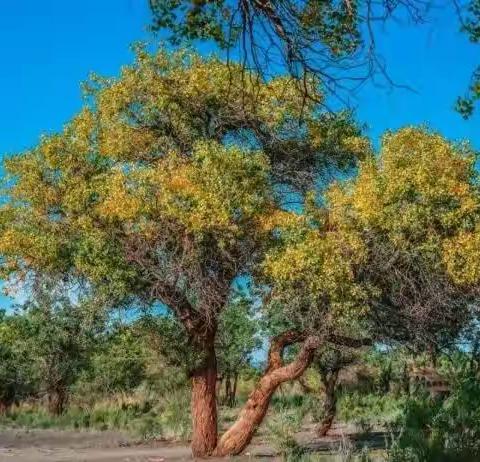
[[[217,457],[237,455],[250,443],[255,431],[268,410],[270,399],[280,384],[295,380],[308,368],[315,350],[320,344],[318,337],[304,340],[298,356],[291,363],[283,365],[282,353],[287,345],[302,340],[298,332],[286,332],[272,341],[268,368],[265,375],[250,394],[237,421],[223,434],[213,453]]]

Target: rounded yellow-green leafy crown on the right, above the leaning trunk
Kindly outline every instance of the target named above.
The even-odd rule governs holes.
[[[267,309],[316,348],[451,346],[478,311],[474,163],[468,146],[425,129],[387,134],[357,177],[319,203],[308,197],[306,213],[277,229],[263,265]],[[351,326],[364,334],[341,335]]]

